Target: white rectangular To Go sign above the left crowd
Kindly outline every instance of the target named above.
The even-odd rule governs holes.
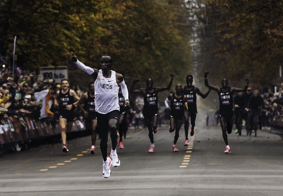
[[[41,67],[39,74],[41,80],[54,79],[54,83],[61,83],[61,79],[68,79],[68,67]]]

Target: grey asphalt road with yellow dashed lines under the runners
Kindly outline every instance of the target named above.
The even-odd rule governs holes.
[[[89,154],[90,136],[68,141],[68,153],[53,144],[7,154],[0,158],[0,195],[283,195],[281,136],[232,132],[231,154],[224,154],[220,127],[198,126],[204,123],[198,120],[188,147],[182,126],[179,152],[167,126],[154,134],[154,153],[147,130],[130,129],[125,149],[117,149],[121,166],[107,179],[99,146]]]

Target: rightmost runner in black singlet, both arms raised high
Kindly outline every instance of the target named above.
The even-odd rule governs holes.
[[[232,132],[233,127],[233,94],[234,92],[246,92],[248,89],[248,85],[250,80],[246,78],[246,86],[244,89],[239,89],[235,87],[228,87],[228,79],[224,77],[221,80],[222,88],[209,85],[207,75],[208,71],[204,73],[204,84],[209,89],[212,89],[218,93],[219,96],[219,114],[220,114],[220,125],[222,128],[223,139],[226,144],[226,150],[224,153],[230,153],[230,146],[228,144],[227,133],[230,134]],[[226,133],[227,132],[227,133]]]

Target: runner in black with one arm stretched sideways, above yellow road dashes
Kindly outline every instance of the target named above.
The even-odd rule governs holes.
[[[187,85],[184,87],[184,95],[187,98],[188,103],[188,110],[184,111],[184,118],[185,118],[185,144],[184,146],[188,146],[189,140],[188,140],[188,133],[189,133],[189,118],[191,119],[191,131],[190,135],[194,135],[194,127],[196,125],[196,114],[198,113],[197,106],[196,106],[196,94],[200,95],[203,99],[205,99],[211,89],[207,91],[207,93],[203,94],[200,92],[200,89],[198,87],[195,87],[192,85],[193,83],[193,76],[188,75],[186,76],[186,83]]]

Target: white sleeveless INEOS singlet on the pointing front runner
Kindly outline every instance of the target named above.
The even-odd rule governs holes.
[[[113,110],[119,110],[119,87],[116,83],[116,72],[111,70],[111,77],[102,76],[99,70],[97,79],[94,82],[95,89],[95,111],[100,114],[107,114]]]

